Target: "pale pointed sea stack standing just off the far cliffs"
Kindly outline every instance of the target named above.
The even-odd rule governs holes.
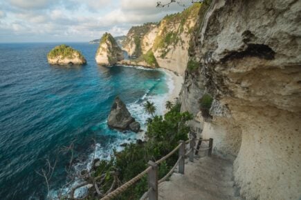
[[[123,59],[123,53],[116,40],[109,33],[104,33],[95,54],[95,61],[101,66],[113,66]]]

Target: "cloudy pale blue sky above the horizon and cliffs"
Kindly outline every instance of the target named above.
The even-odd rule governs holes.
[[[0,0],[0,43],[91,41],[104,32],[120,36],[131,26],[157,22],[184,9],[177,3],[156,8],[157,1]]]

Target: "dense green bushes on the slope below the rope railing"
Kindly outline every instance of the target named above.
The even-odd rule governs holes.
[[[150,102],[149,102],[150,103]],[[181,106],[176,104],[165,116],[155,116],[149,121],[147,126],[147,142],[142,144],[130,144],[121,152],[115,152],[115,157],[111,161],[102,161],[100,167],[96,170],[95,177],[106,173],[104,182],[104,191],[107,191],[113,182],[113,176],[109,174],[111,170],[119,172],[118,179],[125,183],[135,177],[147,168],[149,160],[156,161],[165,154],[169,153],[179,144],[179,140],[188,139],[190,128],[185,122],[192,119],[192,114],[188,112],[180,112]],[[178,159],[175,153],[165,162],[159,165],[159,179],[165,176],[167,172],[174,166]],[[147,176],[140,179],[134,186],[129,187],[115,199],[139,199],[141,195],[147,191]],[[89,199],[95,199],[93,194]]]

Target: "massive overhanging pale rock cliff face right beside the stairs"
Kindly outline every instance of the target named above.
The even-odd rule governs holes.
[[[300,11],[301,1],[217,0],[192,39],[182,110],[215,98],[203,137],[236,158],[246,199],[301,195]]]

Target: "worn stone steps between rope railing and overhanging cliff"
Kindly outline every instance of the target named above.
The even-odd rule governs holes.
[[[161,200],[241,199],[232,177],[232,161],[213,155],[188,162],[185,174],[175,172],[158,190]]]

